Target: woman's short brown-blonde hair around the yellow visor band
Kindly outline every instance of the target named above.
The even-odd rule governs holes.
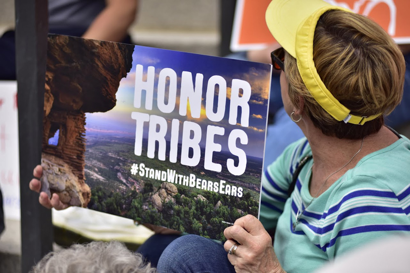
[[[313,61],[327,89],[352,114],[389,114],[401,100],[405,62],[390,36],[367,17],[345,11],[328,11],[317,22]],[[356,125],[337,121],[312,97],[300,77],[296,59],[286,54],[289,97],[325,135],[361,139],[377,132],[383,116]]]

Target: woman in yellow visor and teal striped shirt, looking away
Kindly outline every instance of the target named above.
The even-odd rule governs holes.
[[[383,117],[402,95],[397,45],[321,0],[273,0],[266,21],[283,47],[272,61],[285,109],[306,138],[264,174],[260,220],[225,229],[227,255],[187,235],[167,247],[159,272],[311,272],[375,238],[410,235],[410,141]]]

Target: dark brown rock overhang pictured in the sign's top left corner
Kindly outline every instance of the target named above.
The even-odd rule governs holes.
[[[115,106],[120,80],[132,67],[132,46],[60,35],[50,35],[47,46],[54,108],[105,112]]]

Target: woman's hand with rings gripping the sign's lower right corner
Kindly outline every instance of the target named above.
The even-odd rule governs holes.
[[[228,254],[236,272],[285,272],[273,250],[271,236],[255,216],[237,219],[223,234],[227,239],[223,245],[226,251],[239,243],[235,254]]]

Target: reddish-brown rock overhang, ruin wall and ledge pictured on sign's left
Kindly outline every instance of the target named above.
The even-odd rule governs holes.
[[[120,80],[132,67],[133,50],[133,46],[111,42],[59,35],[48,38],[42,146],[44,155],[52,156],[48,161],[63,167],[50,163],[43,167],[52,170],[46,178],[50,191],[58,192],[71,205],[85,207],[91,197],[84,176],[85,113],[115,106]],[[50,145],[49,139],[57,132],[58,143]]]

